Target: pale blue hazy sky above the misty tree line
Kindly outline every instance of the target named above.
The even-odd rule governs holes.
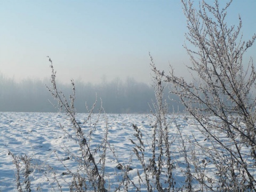
[[[230,6],[228,22],[238,24],[240,14],[245,39],[256,33],[255,9],[255,0]],[[149,51],[159,69],[170,62],[177,74],[187,75],[186,18],[179,0],[0,0],[0,25],[0,71],[17,81],[50,78],[49,55],[60,81],[129,76],[149,82]],[[254,59],[255,46],[247,54]]]

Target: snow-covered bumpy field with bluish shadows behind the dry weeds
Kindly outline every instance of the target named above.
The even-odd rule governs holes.
[[[89,121],[86,121],[87,114],[77,114],[76,119],[85,133],[86,141],[90,145],[101,174],[102,166],[105,166],[105,188],[108,191],[115,191],[118,186],[122,186],[119,189],[120,191],[125,189],[128,191],[138,189],[147,191],[145,172],[141,161],[138,160],[133,151],[135,146],[131,140],[140,146],[136,138],[137,133],[133,129],[133,124],[135,124],[142,133],[145,166],[149,165],[149,159],[153,157],[152,130],[155,123],[154,117],[146,114],[103,114],[98,117],[97,114],[94,114]],[[196,142],[208,145],[207,137],[197,129],[193,129],[188,124],[189,120],[183,116],[174,118],[170,115],[167,118],[173,178],[171,182],[176,189],[186,184],[188,170],[184,152],[190,154],[188,161],[191,161],[193,159],[191,158],[191,150],[196,151],[194,162],[198,164],[191,164],[190,169],[201,170],[201,173],[206,175],[205,178],[208,181],[205,182],[208,182],[209,186],[214,185],[211,179],[218,180],[217,170],[215,170],[210,159],[207,159],[199,149],[194,148],[189,142],[189,138],[192,141],[196,138]],[[180,129],[183,143],[177,127]],[[86,170],[82,170],[78,165],[78,162],[83,162],[83,159],[79,158],[82,153],[81,148],[78,141],[76,141],[76,133],[70,119],[65,114],[0,113],[0,130],[0,191],[17,191],[15,176],[17,167],[13,163],[11,154],[19,157],[20,181],[23,190],[26,186],[25,183],[22,183],[25,167],[21,157],[25,157],[25,154],[31,158],[28,178],[32,191],[69,191],[73,178],[71,173],[80,173],[81,175],[83,175],[83,172],[86,173]],[[91,137],[87,137],[91,131]],[[158,135],[158,133],[156,134]],[[99,163],[104,151],[104,147],[102,147],[104,138],[107,138],[105,164],[102,161]],[[156,139],[159,140],[159,138]],[[139,151],[139,147],[135,148]],[[156,162],[158,154],[159,151],[156,151]],[[139,155],[142,157],[141,153]],[[163,167],[166,167],[166,161],[163,164]],[[167,180],[169,175],[166,173],[167,169],[161,171],[161,181],[162,185],[167,187],[168,183],[165,183],[164,180]],[[196,173],[194,174],[196,175]],[[155,178],[151,178],[150,174],[148,175],[154,189],[156,187],[154,184]],[[85,183],[90,186],[89,182],[85,181]],[[198,186],[199,183],[194,182],[193,187],[197,188]],[[88,190],[90,191],[90,189]],[[154,191],[157,191],[157,189],[155,188]]]

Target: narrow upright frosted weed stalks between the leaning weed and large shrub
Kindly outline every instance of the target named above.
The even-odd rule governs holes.
[[[153,58],[150,59],[151,67],[155,68]],[[162,74],[154,73],[152,78],[155,101],[153,101],[153,108],[151,108],[154,122],[151,124],[150,139],[143,139],[143,134],[148,134],[147,131],[140,130],[138,126],[133,125],[136,140],[131,139],[131,142],[134,144],[133,151],[145,174],[145,178],[142,179],[140,177],[140,180],[146,183],[147,191],[173,191],[175,180],[172,174],[174,159],[171,157],[171,144],[174,138],[169,133],[170,121],[167,121],[168,105],[164,99],[165,85]],[[150,148],[150,150],[145,152],[145,148]],[[147,159],[145,153],[149,153],[151,157]]]

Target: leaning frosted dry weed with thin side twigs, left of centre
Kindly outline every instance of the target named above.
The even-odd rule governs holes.
[[[54,71],[52,60],[49,58],[51,63],[50,67],[52,69],[51,75],[51,87],[47,87],[47,89],[51,92],[52,96],[58,101],[58,108],[60,111],[64,111],[66,115],[69,117],[70,122],[73,126],[73,130],[75,132],[75,137],[71,137],[74,142],[78,143],[79,149],[81,151],[80,154],[74,154],[68,150],[68,148],[63,147],[66,150],[66,153],[71,156],[78,163],[77,172],[71,171],[63,162],[63,159],[59,159],[63,166],[66,167],[67,173],[72,175],[73,179],[71,183],[69,183],[70,191],[106,191],[105,188],[105,161],[106,161],[106,150],[107,150],[107,138],[108,138],[108,124],[106,121],[106,133],[102,138],[102,142],[99,146],[93,148],[91,146],[92,142],[92,133],[97,126],[99,121],[99,117],[103,108],[101,107],[98,111],[98,119],[91,124],[91,116],[93,114],[93,110],[95,110],[95,105],[92,106],[91,109],[86,106],[88,110],[88,115],[84,119],[84,122],[78,122],[76,119],[76,109],[74,107],[75,103],[75,84],[74,81],[71,80],[73,94],[69,95],[69,99],[66,99],[65,95],[58,90],[56,83],[56,72]],[[107,119],[106,119],[107,120]],[[82,129],[82,125],[89,124],[90,129],[84,131]],[[61,129],[66,132],[65,127],[60,125]],[[66,132],[69,134],[68,132]]]

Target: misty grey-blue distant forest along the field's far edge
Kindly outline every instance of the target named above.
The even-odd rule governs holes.
[[[50,80],[23,79],[16,82],[13,78],[0,74],[0,111],[57,112],[58,108],[54,107],[57,101],[52,98],[45,85],[51,86]],[[98,107],[102,100],[106,113],[150,113],[150,106],[155,100],[153,86],[137,82],[134,78],[126,78],[124,82],[116,78],[99,84],[75,81],[75,87],[75,107],[78,113],[87,113],[85,103],[90,109],[96,98]],[[71,84],[59,83],[58,89],[67,99],[72,92]],[[166,99],[172,112],[173,105],[177,109],[177,103],[170,102],[167,98],[168,91],[166,88]]]

